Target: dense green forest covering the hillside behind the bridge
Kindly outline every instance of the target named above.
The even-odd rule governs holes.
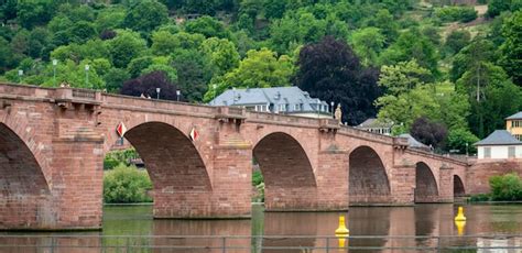
[[[207,102],[298,86],[438,151],[522,110],[522,0],[0,0],[0,81]],[[471,146],[470,146],[471,147]]]

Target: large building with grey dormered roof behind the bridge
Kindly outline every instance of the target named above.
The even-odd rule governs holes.
[[[209,106],[242,107],[250,111],[284,113],[311,118],[331,118],[326,101],[312,98],[298,87],[229,89]]]

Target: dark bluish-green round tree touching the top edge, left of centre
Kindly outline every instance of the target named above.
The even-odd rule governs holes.
[[[138,1],[129,9],[123,25],[146,34],[167,21],[168,10],[163,3],[156,0],[145,0]]]

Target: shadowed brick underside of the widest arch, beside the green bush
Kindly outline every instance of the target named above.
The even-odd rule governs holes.
[[[211,183],[205,164],[188,138],[175,127],[146,122],[124,138],[142,157],[154,188],[155,217],[191,217],[194,205],[208,202]]]

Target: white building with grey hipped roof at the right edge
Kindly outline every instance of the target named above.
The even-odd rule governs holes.
[[[505,130],[496,130],[475,145],[479,160],[522,158],[522,142]]]

